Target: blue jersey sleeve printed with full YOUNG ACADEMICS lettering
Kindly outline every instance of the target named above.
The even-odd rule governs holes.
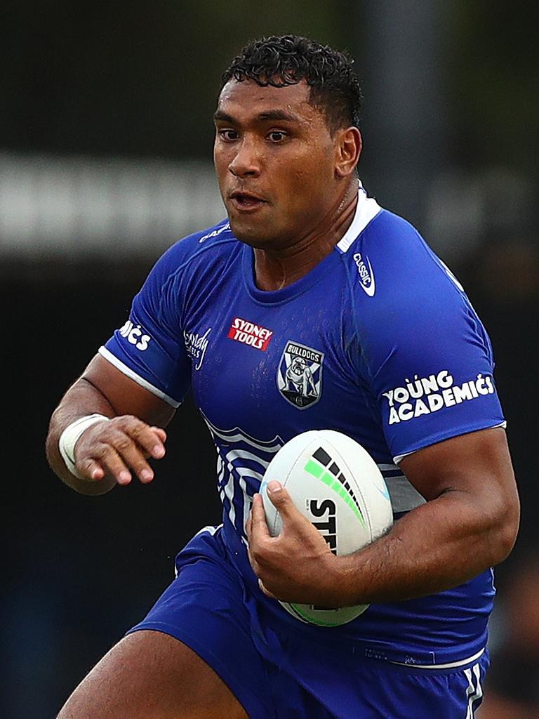
[[[505,426],[492,347],[456,278],[402,221],[382,295],[363,329],[369,384],[395,462],[430,444]],[[374,257],[374,252],[372,252]]]

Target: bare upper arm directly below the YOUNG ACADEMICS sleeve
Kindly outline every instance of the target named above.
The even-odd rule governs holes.
[[[482,504],[502,502],[508,510],[518,505],[507,438],[501,427],[431,444],[402,459],[400,467],[426,500],[456,490]]]

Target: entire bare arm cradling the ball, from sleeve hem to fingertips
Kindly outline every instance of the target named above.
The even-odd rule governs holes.
[[[264,587],[279,599],[321,606],[390,602],[455,587],[507,557],[519,503],[503,429],[434,444],[401,467],[427,503],[348,557],[333,557],[286,490],[271,496],[283,516],[282,534],[273,538],[257,529],[263,513],[257,498],[251,557]]]

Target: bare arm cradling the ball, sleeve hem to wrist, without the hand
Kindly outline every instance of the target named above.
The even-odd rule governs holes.
[[[515,543],[519,503],[503,429],[427,447],[401,463],[427,503],[345,560],[351,595],[390,601],[432,594],[502,562]],[[369,581],[354,581],[354,574]],[[354,586],[358,585],[358,586]]]

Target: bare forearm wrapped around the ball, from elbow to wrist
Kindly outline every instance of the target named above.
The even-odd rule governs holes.
[[[466,493],[451,491],[398,520],[356,554],[338,557],[346,603],[391,602],[455,587],[502,562],[515,542],[517,517],[479,511]]]

